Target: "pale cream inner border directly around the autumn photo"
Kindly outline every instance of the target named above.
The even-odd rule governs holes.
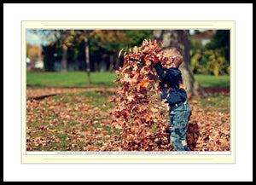
[[[26,107],[26,30],[104,29],[230,30],[230,151],[219,152],[31,152],[26,151],[26,115],[22,109],[22,163],[235,163],[235,21],[21,21],[22,29],[22,108]],[[25,42],[25,43],[24,43]],[[24,125],[25,123],[25,125]],[[63,157],[64,156],[64,157]],[[119,159],[120,158],[120,159]],[[163,160],[164,159],[164,160]]]

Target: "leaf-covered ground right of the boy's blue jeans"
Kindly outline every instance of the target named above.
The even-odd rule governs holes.
[[[192,116],[186,133],[191,151],[230,151],[230,113],[207,112],[195,100],[190,102]],[[212,108],[211,108],[212,109]]]

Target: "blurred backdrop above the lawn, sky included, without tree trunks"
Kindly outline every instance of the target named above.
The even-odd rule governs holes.
[[[112,72],[122,66],[123,59],[117,56],[119,50],[141,45],[143,39],[152,38],[152,32],[151,30],[27,30],[27,71],[86,71],[87,43],[90,71]],[[230,31],[189,30],[189,34],[193,72],[229,75]]]

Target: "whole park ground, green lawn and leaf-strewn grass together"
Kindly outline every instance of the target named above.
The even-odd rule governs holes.
[[[116,90],[110,72],[28,72],[27,151],[119,151],[121,130],[111,124]],[[230,78],[195,75],[209,96],[191,96],[190,150],[230,151]],[[167,119],[167,112],[166,112]],[[172,150],[172,148],[171,148]]]

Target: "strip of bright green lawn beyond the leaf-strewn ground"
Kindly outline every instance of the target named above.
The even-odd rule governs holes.
[[[195,74],[202,87],[230,87],[230,76]],[[113,87],[114,72],[90,72],[91,84],[87,84],[86,72],[27,72],[27,87]]]

